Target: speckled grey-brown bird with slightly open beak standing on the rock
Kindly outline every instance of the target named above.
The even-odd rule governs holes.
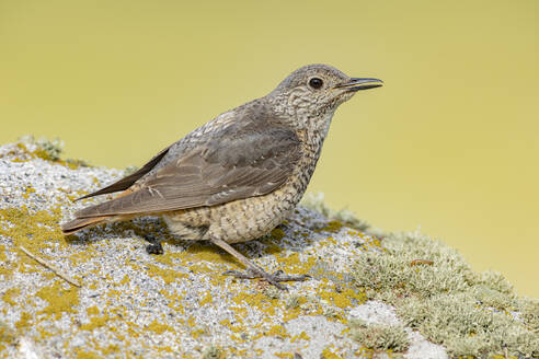
[[[286,289],[307,280],[283,270],[266,273],[231,244],[259,239],[296,208],[320,158],[335,109],[360,90],[382,85],[314,63],[286,77],[267,95],[225,112],[154,155],[135,173],[78,199],[119,194],[83,208],[60,224],[72,234],[108,221],[162,216],[171,233],[209,241],[236,257],[245,271]],[[147,238],[160,254],[159,241]]]

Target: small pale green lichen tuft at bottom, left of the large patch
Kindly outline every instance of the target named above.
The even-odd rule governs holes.
[[[403,352],[410,347],[408,333],[400,325],[367,324],[354,320],[348,326],[352,338],[369,349]]]

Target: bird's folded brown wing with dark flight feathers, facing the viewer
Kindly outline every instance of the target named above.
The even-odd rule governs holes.
[[[228,126],[141,178],[133,193],[76,216],[161,212],[265,195],[290,177],[300,157],[300,141],[288,128]]]

